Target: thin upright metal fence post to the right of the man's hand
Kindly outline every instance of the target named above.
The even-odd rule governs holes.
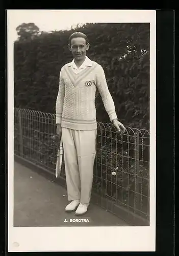
[[[140,171],[140,166],[139,166],[139,132],[137,131],[135,133],[135,162],[136,162],[136,177],[135,177],[135,207],[138,209],[138,207],[140,206],[140,195],[139,195],[139,185],[140,185],[140,182],[139,182],[139,178],[138,178],[138,175],[139,175],[139,171]]]

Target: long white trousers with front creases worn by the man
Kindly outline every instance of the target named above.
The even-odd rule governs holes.
[[[78,131],[62,127],[68,200],[89,203],[96,155],[97,130]]]

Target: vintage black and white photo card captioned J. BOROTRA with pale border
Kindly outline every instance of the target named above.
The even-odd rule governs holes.
[[[9,251],[155,251],[155,40],[156,11],[8,10]]]

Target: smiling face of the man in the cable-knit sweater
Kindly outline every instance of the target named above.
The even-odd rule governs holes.
[[[82,60],[86,56],[86,51],[89,49],[89,44],[83,37],[76,37],[71,39],[70,51],[75,60]]]

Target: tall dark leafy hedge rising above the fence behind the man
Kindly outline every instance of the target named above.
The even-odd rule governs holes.
[[[149,129],[149,24],[85,24],[16,41],[15,106],[55,113],[59,72],[72,59],[68,37],[77,30],[88,35],[88,57],[105,70],[118,118],[125,126]],[[108,122],[98,94],[96,109],[97,120]]]

